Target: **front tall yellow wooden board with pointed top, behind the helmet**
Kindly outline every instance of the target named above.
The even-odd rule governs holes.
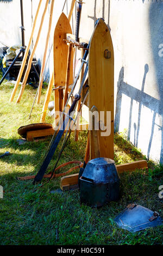
[[[114,50],[109,29],[103,19],[95,27],[89,50],[89,110],[93,105],[99,114],[104,111],[105,126],[106,111],[111,114],[108,122],[108,129],[111,127],[110,135],[105,133],[107,136],[102,136],[102,131],[99,130],[98,137],[100,156],[114,159]],[[90,159],[94,158],[95,150],[90,131]]]

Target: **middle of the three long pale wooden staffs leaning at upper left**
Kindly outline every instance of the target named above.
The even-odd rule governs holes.
[[[21,90],[20,90],[20,93],[19,93],[19,95],[17,97],[16,103],[20,102],[21,97],[22,97],[23,92],[24,92],[24,88],[26,87],[26,82],[27,82],[27,79],[28,79],[28,75],[29,75],[29,72],[30,72],[31,65],[32,65],[32,60],[33,60],[33,57],[34,57],[34,53],[35,53],[37,44],[39,42],[39,38],[40,38],[40,34],[41,34],[41,29],[42,29],[42,25],[43,25],[43,20],[45,18],[46,10],[47,10],[47,7],[48,7],[48,2],[49,2],[49,0],[46,0],[45,9],[43,11],[43,15],[42,15],[42,18],[41,18],[41,24],[40,24],[39,32],[37,34],[37,38],[36,38],[35,45],[33,47],[33,51],[30,54],[30,57],[29,57],[29,60],[28,60],[26,74],[24,75],[22,86],[21,86]]]

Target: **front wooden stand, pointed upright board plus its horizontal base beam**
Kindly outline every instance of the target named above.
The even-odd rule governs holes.
[[[110,113],[109,135],[102,136],[102,131],[98,130],[95,136],[93,129],[89,131],[90,159],[95,159],[97,156],[114,159],[114,50],[109,29],[103,19],[98,21],[90,42],[88,106],[89,110],[91,110],[92,107],[96,107],[99,117],[101,111],[103,111],[105,115],[106,112]],[[106,126],[106,121],[104,121],[103,125]],[[108,129],[108,127],[106,127],[106,129]],[[97,138],[98,142],[96,141]],[[87,145],[88,144],[89,143],[87,143]],[[96,147],[99,147],[98,151]],[[89,152],[89,150],[86,151]],[[147,161],[145,160],[120,164],[116,167],[118,173],[148,168]],[[60,181],[60,187],[63,191],[69,190],[70,187],[77,187],[77,184],[78,174],[64,176]]]

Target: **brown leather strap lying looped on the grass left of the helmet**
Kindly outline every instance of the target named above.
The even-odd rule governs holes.
[[[52,178],[51,178],[52,172],[49,172],[48,174],[43,175],[43,178],[51,178],[51,179],[53,179],[53,178],[57,178],[57,177],[60,177],[60,176],[64,176],[64,175],[66,175],[68,173],[71,173],[73,170],[76,170],[76,169],[78,169],[78,168],[83,166],[83,163],[81,161],[70,161],[70,162],[67,162],[67,163],[62,163],[59,167],[57,167],[55,169],[55,171],[59,170],[62,167],[68,166],[69,164],[72,164],[72,163],[77,163],[79,165],[70,168],[69,170],[67,170],[67,172],[64,172],[64,173],[58,173],[58,174],[54,173]],[[35,175],[31,175],[31,176],[25,176],[25,177],[18,177],[17,179],[18,180],[32,180],[34,178],[35,178]]]

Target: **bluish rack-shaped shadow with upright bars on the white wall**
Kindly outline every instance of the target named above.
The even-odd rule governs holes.
[[[146,94],[144,92],[146,75],[148,72],[148,64],[145,65],[145,72],[143,75],[142,87],[141,90],[130,86],[123,81],[124,78],[124,68],[121,68],[118,83],[117,83],[117,98],[116,98],[116,112],[115,112],[115,130],[118,131],[120,127],[120,117],[121,117],[121,104],[122,104],[122,95],[127,95],[130,97],[130,111],[129,111],[129,126],[128,126],[128,140],[130,140],[130,131],[131,131],[131,117],[133,113],[133,101],[139,102],[139,110],[138,110],[138,118],[137,124],[134,123],[134,145],[137,147],[138,139],[139,139],[139,131],[140,131],[140,120],[141,120],[141,109],[142,106],[146,106],[153,111],[153,120],[152,120],[152,129],[151,129],[151,137],[149,139],[148,152],[147,157],[149,158],[149,154],[151,151],[153,133],[154,133],[154,125],[155,125],[155,117],[156,113],[161,114],[159,109],[160,101],[155,99],[154,97]]]

